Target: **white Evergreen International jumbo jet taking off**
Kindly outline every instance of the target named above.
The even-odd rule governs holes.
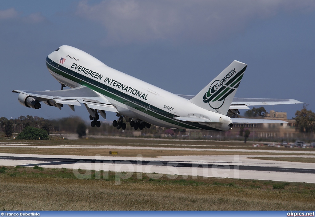
[[[51,75],[61,83],[59,91],[20,91],[19,102],[29,108],[41,108],[40,102],[61,109],[67,104],[85,105],[91,126],[100,127],[99,114],[116,112],[113,121],[117,129],[130,123],[135,130],[151,124],[179,129],[229,131],[233,123],[286,123],[281,120],[233,119],[228,111],[250,105],[301,103],[292,99],[234,98],[247,64],[233,61],[196,96],[176,95],[140,79],[106,66],[95,57],[77,48],[63,45],[49,54],[46,65]],[[64,86],[71,89],[63,90]],[[234,98],[234,101],[233,101]],[[187,100],[189,99],[189,100]],[[235,100],[236,99],[236,100]]]

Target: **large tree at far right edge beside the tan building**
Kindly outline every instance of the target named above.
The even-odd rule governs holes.
[[[315,132],[315,113],[303,106],[301,111],[295,112],[295,127],[300,132]]]

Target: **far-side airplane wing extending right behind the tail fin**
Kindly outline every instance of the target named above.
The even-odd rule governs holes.
[[[192,95],[180,95],[187,100],[192,99]],[[281,104],[299,104],[302,103],[295,99],[261,99],[261,98],[237,98],[234,97],[230,105],[230,109],[249,109],[248,106],[259,106],[259,105],[281,105]]]

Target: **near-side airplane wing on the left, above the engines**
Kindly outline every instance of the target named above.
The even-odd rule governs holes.
[[[87,86],[80,86],[72,89],[59,91],[20,91],[14,90],[14,93],[23,93],[36,98],[39,102],[53,100],[56,104],[67,104],[81,106],[85,104],[89,108],[118,112],[106,97],[93,91]],[[61,109],[61,106],[58,108]]]

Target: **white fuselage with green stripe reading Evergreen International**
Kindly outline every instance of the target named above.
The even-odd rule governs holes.
[[[71,46],[61,46],[46,58],[52,76],[71,88],[81,85],[102,94],[124,117],[180,129],[228,131],[232,120],[189,102],[145,81],[106,66],[88,53]],[[212,124],[180,121],[189,115],[208,118]],[[230,125],[230,126],[229,126]]]

